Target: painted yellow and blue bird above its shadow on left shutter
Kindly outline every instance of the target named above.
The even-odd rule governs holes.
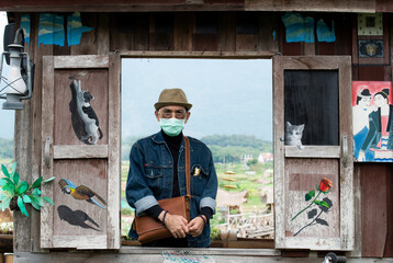
[[[98,205],[99,207],[105,209],[105,207],[100,205],[93,197],[96,196],[105,206],[106,202],[88,186],[80,185],[77,187],[71,181],[66,179],[60,179],[58,184],[60,185],[63,193],[70,194],[75,199],[85,199],[90,204]]]

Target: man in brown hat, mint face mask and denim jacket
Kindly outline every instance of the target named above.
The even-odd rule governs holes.
[[[182,129],[191,107],[181,89],[164,90],[155,104],[161,130],[136,141],[131,149],[127,202],[137,215],[147,214],[161,221],[172,235],[145,245],[210,247],[209,220],[215,211],[217,176],[212,153],[202,141],[190,138],[191,220],[166,213],[157,202],[187,193]],[[130,237],[137,238],[135,230],[130,230]]]

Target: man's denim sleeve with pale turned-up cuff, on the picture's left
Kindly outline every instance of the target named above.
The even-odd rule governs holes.
[[[146,184],[144,151],[137,142],[133,145],[130,152],[130,171],[125,195],[130,206],[135,208],[137,216],[158,204],[153,192]]]

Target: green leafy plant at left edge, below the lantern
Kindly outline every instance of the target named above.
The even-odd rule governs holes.
[[[0,179],[0,207],[5,210],[10,207],[11,210],[20,209],[23,215],[29,217],[25,204],[31,204],[35,209],[41,210],[44,206],[44,201],[55,205],[49,197],[41,196],[41,184],[50,182],[55,176],[43,181],[43,176],[34,181],[32,185],[20,179],[16,172],[16,162],[12,163],[11,172],[5,165],[1,164],[4,178]]]

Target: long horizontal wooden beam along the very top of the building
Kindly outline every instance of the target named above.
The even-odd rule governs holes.
[[[375,3],[377,2],[377,3]],[[2,0],[8,12],[181,12],[181,11],[297,11],[297,12],[392,12],[389,0]]]

